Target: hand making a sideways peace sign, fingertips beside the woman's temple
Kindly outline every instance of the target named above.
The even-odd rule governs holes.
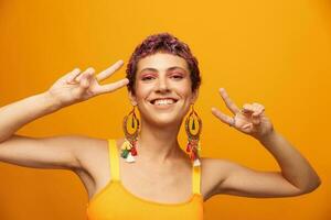
[[[96,76],[94,76],[95,69],[92,67],[87,68],[85,72],[75,68],[57,79],[47,92],[61,107],[65,107],[87,100],[100,94],[115,91],[126,86],[129,82],[129,79],[124,78],[107,85],[99,85],[99,82],[111,76],[122,66],[122,61],[118,61]]]

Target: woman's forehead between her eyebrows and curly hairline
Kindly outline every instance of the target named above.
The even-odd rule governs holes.
[[[184,58],[173,54],[157,53],[141,58],[137,65],[137,73],[145,68],[166,70],[174,66],[181,67],[189,72],[188,63]]]

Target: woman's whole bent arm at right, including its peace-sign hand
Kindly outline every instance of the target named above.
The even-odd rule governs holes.
[[[231,118],[213,108],[222,122],[255,138],[276,158],[281,172],[259,172],[226,160],[213,160],[211,166],[220,182],[215,194],[246,197],[288,197],[314,190],[321,180],[308,161],[278,132],[259,103],[244,105],[239,110],[224,89],[220,90]],[[217,172],[218,170],[218,172]]]

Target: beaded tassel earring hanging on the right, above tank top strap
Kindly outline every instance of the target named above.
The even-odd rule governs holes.
[[[196,128],[197,127],[197,128]],[[185,131],[188,134],[186,152],[193,162],[193,166],[200,166],[200,133],[202,129],[202,121],[197,113],[194,111],[193,105],[189,117],[185,120]]]

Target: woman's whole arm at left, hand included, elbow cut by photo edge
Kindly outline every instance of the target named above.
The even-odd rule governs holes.
[[[96,77],[93,68],[84,73],[75,69],[47,91],[0,108],[0,162],[35,168],[81,168],[79,154],[84,154],[85,146],[93,146],[100,140],[82,135],[29,138],[14,133],[24,124],[61,108],[124,87],[127,79],[104,86],[98,84],[121,65],[117,62]]]

